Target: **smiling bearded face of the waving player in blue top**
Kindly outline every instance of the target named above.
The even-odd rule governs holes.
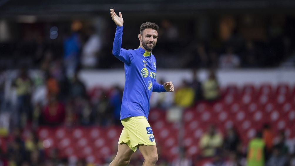
[[[155,29],[145,29],[140,34],[139,38],[141,38],[142,46],[147,51],[151,51],[155,48],[158,38],[158,32]]]

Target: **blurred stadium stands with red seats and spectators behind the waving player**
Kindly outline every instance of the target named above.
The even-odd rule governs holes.
[[[157,165],[246,165],[259,133],[259,160],[295,165],[292,0],[0,0],[0,165],[112,161],[124,64],[109,9],[123,48],[143,22],[160,26],[156,78],[176,91],[151,97]]]

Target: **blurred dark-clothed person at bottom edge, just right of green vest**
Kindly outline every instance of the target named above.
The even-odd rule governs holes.
[[[288,158],[282,154],[280,147],[273,147],[272,155],[269,157],[266,166],[289,166]]]

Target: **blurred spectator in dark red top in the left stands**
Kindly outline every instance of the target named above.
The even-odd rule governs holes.
[[[47,125],[60,125],[65,120],[65,108],[62,103],[58,101],[56,96],[50,96],[47,106],[42,114],[44,124]]]

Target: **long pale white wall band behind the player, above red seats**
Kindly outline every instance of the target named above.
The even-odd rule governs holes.
[[[201,82],[207,78],[207,70],[199,70],[198,77]],[[262,83],[271,83],[276,86],[278,83],[288,83],[290,86],[295,85],[295,69],[240,69],[240,70],[217,70],[217,78],[220,86],[225,87],[228,84],[235,83],[243,86],[245,83],[253,83],[259,86]],[[85,81],[87,88],[96,85],[109,87],[113,85],[124,86],[125,73],[124,69],[116,70],[82,70],[80,78]],[[173,81],[177,87],[181,84],[182,79],[191,80],[191,70],[171,70],[158,69],[156,79],[164,81]]]

